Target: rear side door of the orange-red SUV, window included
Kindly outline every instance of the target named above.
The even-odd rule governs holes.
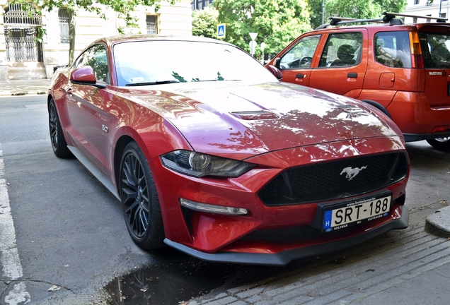
[[[367,30],[327,32],[318,65],[311,71],[309,86],[357,98],[367,69]]]

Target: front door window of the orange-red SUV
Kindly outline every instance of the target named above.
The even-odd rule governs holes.
[[[321,35],[308,36],[299,40],[295,47],[282,56],[279,68],[309,68],[319,40]]]

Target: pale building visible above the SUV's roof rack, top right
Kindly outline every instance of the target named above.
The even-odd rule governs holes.
[[[415,16],[443,17],[449,18],[450,1],[449,0],[408,0],[406,14]],[[405,23],[424,23],[426,19],[405,17]],[[429,22],[429,20],[428,20]]]

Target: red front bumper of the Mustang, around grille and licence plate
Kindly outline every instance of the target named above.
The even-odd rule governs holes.
[[[267,189],[266,186],[271,186],[266,193],[285,195],[283,191],[278,191],[286,189],[284,185],[279,184],[278,189],[272,189],[272,184],[268,183],[275,181],[274,177],[279,177],[279,173],[284,169],[335,160],[346,162],[347,157],[359,159],[365,155],[404,152],[401,140],[400,137],[346,140],[258,155],[248,161],[260,167],[232,179],[187,177],[166,169],[155,159],[151,169],[161,205],[166,244],[207,261],[285,265],[294,258],[342,249],[390,229],[408,227],[408,217],[402,216],[408,181],[406,172],[405,179],[394,182],[398,178],[393,177],[393,184],[376,186],[372,191],[365,189],[360,194],[340,195],[345,188],[332,182],[337,179],[347,181],[345,175],[340,173],[343,167],[349,165],[342,164],[342,168],[337,167],[337,172],[333,167],[335,180],[333,178],[330,181],[327,177],[331,174],[326,173],[323,174],[324,178],[322,174],[316,174],[318,179],[314,180],[321,184],[325,181],[326,185],[332,187],[337,185],[339,196],[328,196],[328,193],[323,192],[326,196],[313,198],[314,201],[299,204],[287,202],[280,205],[274,205],[272,201],[265,204],[259,196],[260,190]],[[403,161],[409,164],[408,160]],[[364,165],[369,164],[371,163],[364,162]],[[374,167],[379,167],[379,164]],[[369,171],[367,173],[369,174]],[[304,174],[304,177],[309,176]],[[358,177],[363,178],[364,172]],[[361,181],[366,181],[364,179]],[[322,187],[316,189],[323,190]],[[312,191],[309,188],[306,190]],[[337,232],[325,234],[313,227],[319,203],[333,205],[342,200],[352,201],[373,196],[381,190],[392,193],[391,213],[387,217],[359,224],[352,229],[338,229]],[[295,196],[299,198],[299,195]],[[181,206],[180,198],[207,205],[245,208],[248,214],[219,215],[192,210]],[[403,221],[399,221],[400,218]]]

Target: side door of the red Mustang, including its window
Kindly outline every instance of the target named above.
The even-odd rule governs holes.
[[[98,83],[109,83],[108,60],[103,44],[87,49],[74,64],[74,69],[91,66]],[[67,91],[67,113],[71,128],[68,132],[74,138],[76,148],[98,169],[105,172],[105,152],[101,126],[101,106],[106,97],[105,90],[92,85],[70,83]]]

